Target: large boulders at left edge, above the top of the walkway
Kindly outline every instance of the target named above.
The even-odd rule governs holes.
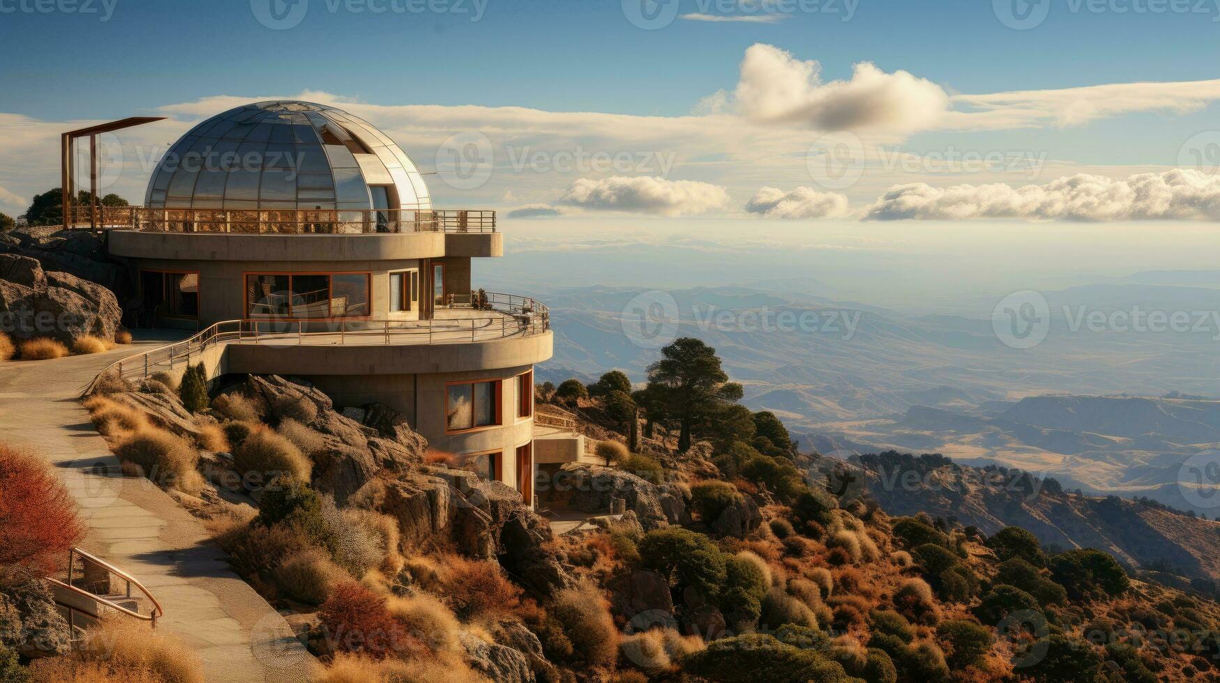
[[[51,337],[72,343],[93,334],[113,339],[123,311],[105,287],[35,259],[0,254],[0,329],[20,339]]]

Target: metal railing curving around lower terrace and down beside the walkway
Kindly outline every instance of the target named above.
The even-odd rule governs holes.
[[[550,329],[550,310],[516,294],[472,293],[482,307],[454,305],[453,310],[487,311],[489,316],[433,318],[425,321],[310,321],[310,320],[232,320],[209,326],[189,339],[173,342],[127,356],[106,366],[82,389],[92,394],[107,374],[139,381],[178,363],[198,362],[199,356],[216,344],[279,345],[410,345],[493,342],[509,337],[531,337]]]

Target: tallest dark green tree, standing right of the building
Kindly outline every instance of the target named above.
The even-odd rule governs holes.
[[[678,421],[678,451],[691,449],[692,434],[703,431],[725,404],[742,398],[742,385],[728,382],[716,350],[692,337],[661,349],[661,360],[648,367],[648,382],[660,388],[667,411]]]

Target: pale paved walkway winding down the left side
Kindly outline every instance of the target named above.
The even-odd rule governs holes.
[[[77,401],[102,367],[137,351],[0,362],[0,440],[62,468],[89,524],[85,550],[148,587],[165,609],[157,628],[203,657],[209,682],[307,681],[312,657],[284,618],[228,568],[199,520],[148,479],[117,476]]]

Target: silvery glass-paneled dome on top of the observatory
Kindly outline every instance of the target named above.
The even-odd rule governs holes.
[[[149,179],[151,209],[432,207],[406,152],[368,122],[301,101],[255,102],[182,137]]]

